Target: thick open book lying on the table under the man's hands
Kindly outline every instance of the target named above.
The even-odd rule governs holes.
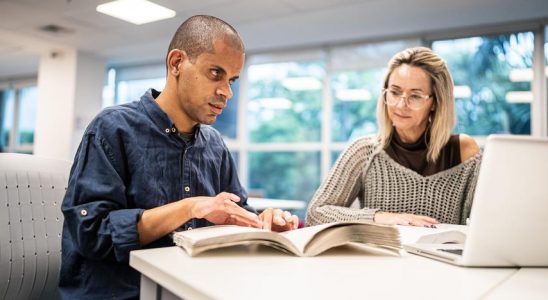
[[[190,256],[210,249],[248,244],[267,245],[298,256],[315,256],[350,243],[363,243],[393,253],[399,253],[401,248],[395,226],[366,221],[335,222],[282,233],[235,225],[210,226],[175,232],[173,241]]]

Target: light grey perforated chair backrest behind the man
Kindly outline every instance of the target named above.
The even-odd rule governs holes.
[[[58,299],[71,162],[0,153],[0,299]]]

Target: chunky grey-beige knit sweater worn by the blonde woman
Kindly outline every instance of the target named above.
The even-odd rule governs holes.
[[[314,194],[306,225],[373,220],[377,211],[464,224],[470,215],[480,161],[478,153],[450,169],[422,176],[394,161],[377,138],[360,138],[341,154]],[[356,198],[360,208],[351,208]]]

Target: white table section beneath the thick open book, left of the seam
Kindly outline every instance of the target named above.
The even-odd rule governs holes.
[[[402,253],[333,249],[294,257],[232,248],[191,258],[178,247],[132,251],[141,299],[478,299],[517,268],[462,268]]]

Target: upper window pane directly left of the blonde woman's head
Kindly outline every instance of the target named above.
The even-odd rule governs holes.
[[[400,40],[331,50],[331,141],[346,143],[377,132],[377,100],[388,60],[418,45],[418,40]]]

